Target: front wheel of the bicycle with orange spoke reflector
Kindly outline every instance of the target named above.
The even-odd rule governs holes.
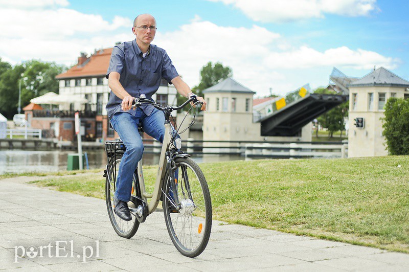
[[[209,188],[199,166],[190,158],[175,158],[172,180],[165,175],[163,210],[169,236],[177,250],[196,257],[205,250],[212,229],[212,202]],[[180,209],[175,209],[174,199]]]

